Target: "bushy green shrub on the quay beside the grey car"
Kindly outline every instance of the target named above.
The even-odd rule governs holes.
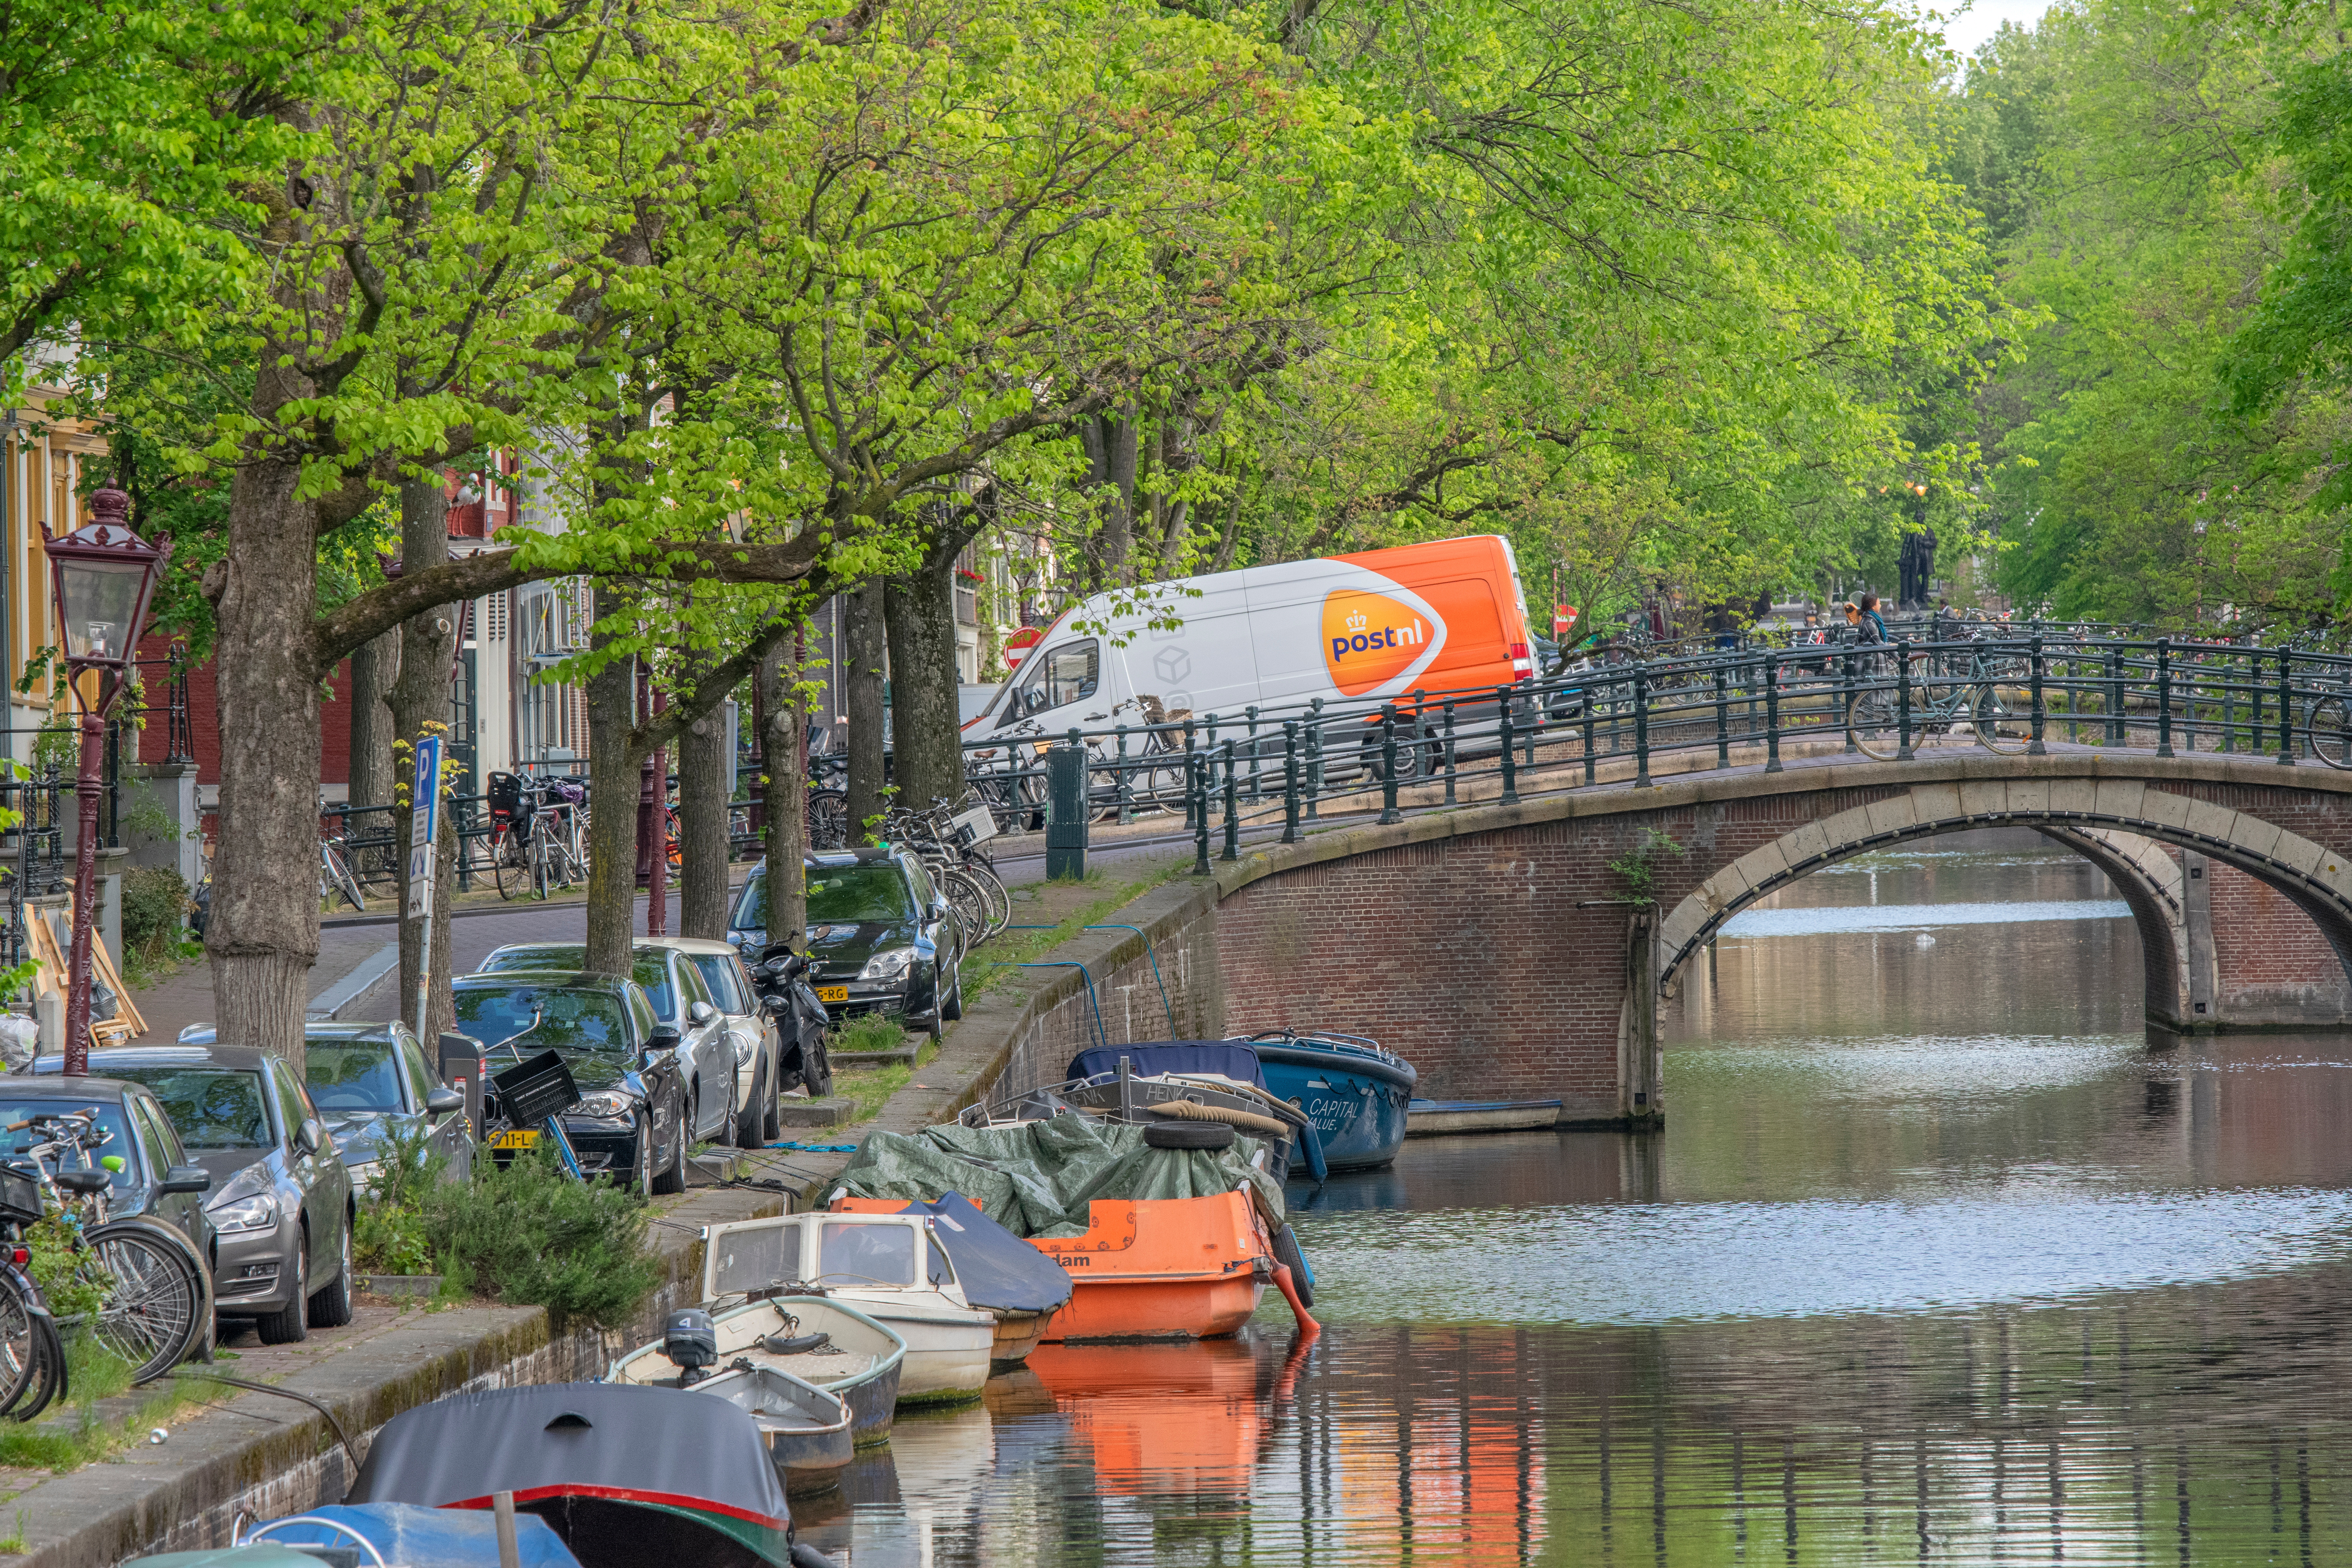
[[[583,1319],[619,1328],[661,1279],[644,1251],[644,1204],[609,1182],[576,1182],[553,1150],[487,1159],[473,1182],[423,1194],[426,1239],[445,1274],[517,1307],[546,1307],[555,1328]]]

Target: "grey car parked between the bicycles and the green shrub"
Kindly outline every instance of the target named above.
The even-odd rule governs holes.
[[[45,1056],[35,1072],[59,1072]],[[350,1321],[350,1173],[282,1060],[252,1046],[111,1046],[89,1070],[143,1084],[212,1173],[214,1312],[263,1345]]]

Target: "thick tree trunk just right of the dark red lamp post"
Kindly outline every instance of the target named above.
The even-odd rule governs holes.
[[[256,409],[296,395],[270,386]],[[212,997],[219,1037],[303,1070],[303,1001],[318,959],[318,614],[315,508],[296,501],[292,458],[249,454],[228,487],[216,663],[221,816],[214,851]]]

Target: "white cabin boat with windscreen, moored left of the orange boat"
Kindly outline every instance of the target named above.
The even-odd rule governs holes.
[[[997,1319],[964,1295],[929,1213],[783,1215],[713,1225],[703,1300],[790,1291],[847,1302],[906,1340],[901,1403],[978,1399]],[[797,1312],[797,1307],[795,1307]]]

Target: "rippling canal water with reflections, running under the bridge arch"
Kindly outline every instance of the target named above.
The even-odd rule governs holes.
[[[1442,983],[1439,978],[1432,978]],[[2086,863],[1820,872],[1684,976],[1668,1131],[1294,1187],[1324,1333],[1047,1347],[804,1537],[929,1563],[2352,1561],[2352,1048],[2150,1048]]]

